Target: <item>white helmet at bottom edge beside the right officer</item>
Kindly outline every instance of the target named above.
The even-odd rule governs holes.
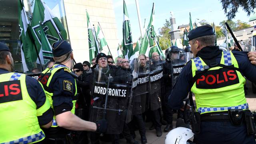
[[[166,135],[165,144],[187,144],[187,140],[193,136],[192,130],[188,128],[174,128]]]

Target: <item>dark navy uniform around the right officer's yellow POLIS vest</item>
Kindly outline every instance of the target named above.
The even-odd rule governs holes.
[[[210,27],[210,26],[209,26]],[[199,28],[200,29],[200,28]],[[199,30],[198,37],[205,35],[212,35],[211,27],[208,28],[211,32],[205,29]],[[197,29],[198,30],[198,29]],[[256,66],[252,65],[247,57],[247,52],[232,52],[236,58],[239,66],[239,70],[252,82],[256,82]],[[199,56],[210,66],[212,60],[216,60],[220,64],[222,50],[219,50],[218,46],[206,46],[202,48],[196,56]],[[169,104],[172,109],[179,109],[183,105],[183,99],[186,98],[188,92],[192,87],[192,62],[188,62],[180,76],[178,81],[174,85],[171,95],[169,96]],[[236,144],[255,144],[255,140],[252,135],[247,135],[246,124],[242,126],[233,126],[230,121],[202,121],[200,134],[195,134],[194,142],[196,144],[208,143],[208,144],[222,144],[222,143],[236,143]]]

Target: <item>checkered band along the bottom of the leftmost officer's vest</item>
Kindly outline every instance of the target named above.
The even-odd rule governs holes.
[[[38,134],[33,134],[31,136],[26,136],[26,137],[20,138],[18,140],[13,140],[13,141],[10,141],[10,142],[4,142],[4,143],[1,143],[1,144],[29,144],[29,143],[41,140],[44,137],[45,137],[45,135],[44,135],[43,131],[41,131]]]

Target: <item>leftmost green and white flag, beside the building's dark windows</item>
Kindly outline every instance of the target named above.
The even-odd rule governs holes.
[[[18,17],[20,27],[20,41],[21,41],[21,58],[23,71],[32,70],[36,68],[36,60],[38,58],[33,43],[33,39],[29,31],[29,22],[22,0],[18,0]]]

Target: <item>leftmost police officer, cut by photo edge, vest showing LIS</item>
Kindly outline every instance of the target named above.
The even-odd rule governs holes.
[[[50,102],[36,79],[12,70],[12,54],[0,42],[0,144],[41,143],[41,128],[52,125]]]

